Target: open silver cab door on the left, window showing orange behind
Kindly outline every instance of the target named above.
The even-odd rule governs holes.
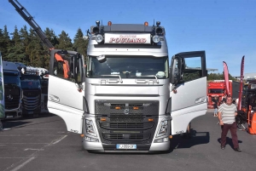
[[[82,133],[84,115],[84,57],[78,52],[50,52],[48,109],[61,117],[67,130]]]

